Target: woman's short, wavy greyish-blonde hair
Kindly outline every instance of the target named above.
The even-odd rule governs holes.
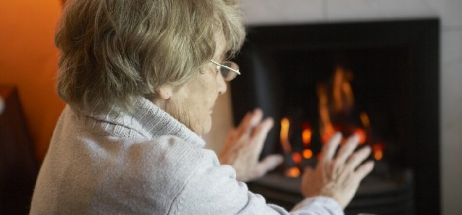
[[[131,110],[162,86],[194,85],[244,36],[234,0],[68,0],[56,33],[58,93],[81,110]]]

